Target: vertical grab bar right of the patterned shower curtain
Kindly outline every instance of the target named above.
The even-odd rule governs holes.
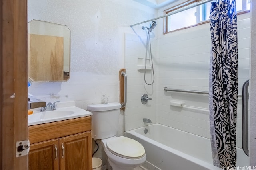
[[[248,86],[249,80],[246,80],[242,89],[242,148],[244,153],[249,156],[248,149]]]

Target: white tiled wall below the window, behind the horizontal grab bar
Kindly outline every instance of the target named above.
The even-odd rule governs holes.
[[[249,79],[250,14],[238,16],[238,94]],[[208,95],[164,92],[163,88],[208,92],[210,23],[170,33],[158,40],[158,123],[210,138]],[[184,108],[170,106],[185,102]],[[241,147],[242,98],[238,98],[237,146]]]

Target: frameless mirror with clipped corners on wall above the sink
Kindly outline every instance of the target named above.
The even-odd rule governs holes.
[[[70,78],[70,29],[32,20],[28,23],[28,78],[33,82],[63,82]]]

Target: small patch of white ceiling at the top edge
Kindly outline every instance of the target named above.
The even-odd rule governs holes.
[[[177,0],[134,0],[134,1],[154,9],[159,9],[159,8],[162,8],[163,6],[172,4]]]

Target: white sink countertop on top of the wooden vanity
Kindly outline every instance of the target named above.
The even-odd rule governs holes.
[[[72,103],[72,104],[70,104]],[[59,107],[68,106],[68,107]],[[32,109],[33,114],[28,115],[28,125],[38,125],[54,121],[62,121],[92,115],[91,112],[74,106],[74,102],[63,102],[56,104],[56,110],[40,112],[40,108]]]

